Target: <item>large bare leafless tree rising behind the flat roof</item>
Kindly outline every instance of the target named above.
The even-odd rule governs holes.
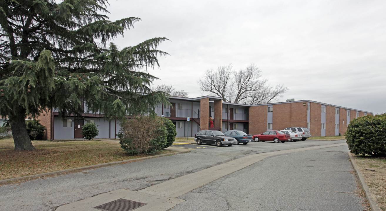
[[[284,85],[271,87],[261,72],[255,64],[239,71],[232,70],[230,64],[218,67],[217,71],[208,69],[198,84],[201,91],[222,97],[224,102],[256,105],[283,97],[288,88]]]

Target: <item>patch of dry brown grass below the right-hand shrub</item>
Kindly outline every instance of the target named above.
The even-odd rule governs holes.
[[[352,156],[373,198],[379,207],[386,211],[386,157]]]

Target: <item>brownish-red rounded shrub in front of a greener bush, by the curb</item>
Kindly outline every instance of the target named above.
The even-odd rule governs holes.
[[[118,138],[130,155],[154,154],[168,145],[167,133],[161,117],[138,116],[122,122]]]

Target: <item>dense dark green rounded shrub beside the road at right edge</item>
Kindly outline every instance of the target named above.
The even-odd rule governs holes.
[[[356,155],[386,156],[386,114],[350,121],[345,136],[350,151]]]

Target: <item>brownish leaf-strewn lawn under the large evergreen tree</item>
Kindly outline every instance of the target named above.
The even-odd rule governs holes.
[[[14,151],[13,139],[0,140],[0,180],[151,156],[129,156],[118,143],[110,141],[32,141],[32,144],[34,151]],[[169,152],[172,151],[158,154]]]

